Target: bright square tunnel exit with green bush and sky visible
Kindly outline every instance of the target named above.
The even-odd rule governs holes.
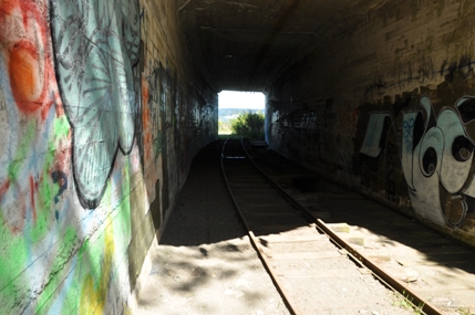
[[[219,135],[264,139],[266,96],[260,92],[223,91],[219,96]]]

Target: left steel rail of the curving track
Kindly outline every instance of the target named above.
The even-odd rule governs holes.
[[[221,150],[221,170],[223,170],[223,176],[224,176],[224,178],[225,178],[226,187],[228,188],[228,191],[229,191],[229,196],[231,197],[233,202],[235,203],[235,207],[236,207],[236,209],[237,209],[237,210],[238,210],[238,212],[239,212],[239,216],[240,216],[240,218],[241,218],[241,221],[242,221],[244,225],[246,227],[246,229],[247,229],[247,231],[248,231],[248,235],[249,235],[249,239],[250,239],[250,243],[252,244],[254,249],[255,249],[255,250],[256,250],[256,252],[258,253],[259,259],[262,261],[262,264],[264,264],[265,269],[266,269],[266,270],[267,270],[267,272],[269,273],[269,275],[270,275],[270,277],[271,277],[271,280],[272,280],[272,282],[273,282],[273,284],[275,284],[275,286],[276,286],[277,291],[279,292],[280,296],[282,297],[283,303],[286,304],[287,308],[289,309],[289,312],[290,312],[292,315],[303,315],[303,314],[298,309],[298,307],[296,306],[296,303],[293,303],[293,302],[291,301],[290,295],[287,293],[287,290],[285,288],[285,286],[283,286],[282,282],[279,280],[279,276],[278,276],[278,275],[277,275],[277,273],[273,271],[273,269],[272,269],[272,266],[271,266],[271,263],[270,263],[269,259],[266,256],[265,252],[264,252],[264,251],[262,251],[262,249],[260,248],[258,239],[256,238],[256,235],[254,234],[252,230],[250,229],[250,225],[249,225],[248,221],[246,220],[246,218],[245,218],[245,216],[244,216],[244,212],[242,212],[241,208],[239,207],[238,202],[236,201],[236,198],[235,198],[235,196],[234,196],[234,193],[233,193],[233,191],[231,191],[231,188],[230,188],[230,186],[229,186],[228,178],[227,178],[227,176],[226,176],[225,166],[224,166],[224,159],[225,159],[225,147],[226,147],[226,144],[228,143],[228,140],[229,140],[229,139],[230,139],[230,138],[228,138],[228,139],[225,141],[225,144],[223,145],[223,150]],[[249,158],[247,158],[247,159],[249,159]]]

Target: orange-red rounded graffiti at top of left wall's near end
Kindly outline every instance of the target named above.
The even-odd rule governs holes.
[[[0,52],[8,65],[18,108],[28,114],[53,105],[48,88],[55,86],[45,0],[0,1]],[[52,84],[53,83],[53,84]],[[54,94],[53,94],[54,96]],[[44,116],[44,113],[42,113]]]

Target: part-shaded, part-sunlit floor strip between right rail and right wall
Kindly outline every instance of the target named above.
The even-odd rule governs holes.
[[[259,153],[272,180],[380,269],[443,314],[475,314],[473,250],[275,151]]]

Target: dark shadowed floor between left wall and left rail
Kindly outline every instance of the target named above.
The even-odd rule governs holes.
[[[247,235],[223,178],[223,144],[214,141],[194,158],[159,244],[198,246]]]

